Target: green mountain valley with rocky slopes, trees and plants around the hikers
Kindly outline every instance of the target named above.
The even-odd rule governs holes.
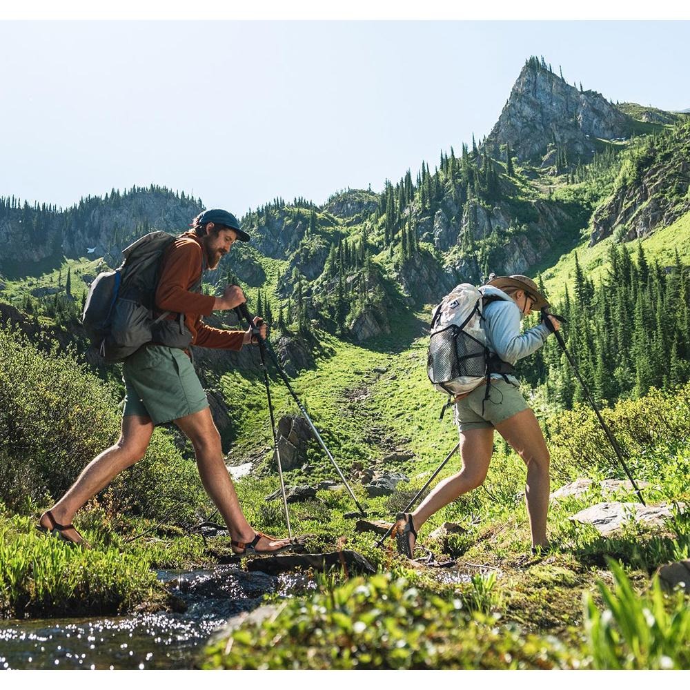
[[[551,451],[552,489],[589,482],[553,499],[551,549],[525,555],[524,466],[497,437],[484,489],[420,532],[419,543],[435,553],[428,564],[452,566],[412,567],[343,517],[354,510],[351,497],[269,363],[286,483],[295,491],[293,531],[313,535],[315,551],[347,542],[377,574],[354,578],[345,567],[317,575],[313,589],[282,602],[274,590],[267,616],[235,621],[188,665],[688,667],[687,594],[662,594],[664,576],[655,573],[671,561],[689,563],[682,504],[690,500],[690,113],[613,103],[531,57],[497,115],[491,132],[442,150],[436,161],[411,161],[380,190],[335,191],[320,206],[273,199],[248,210],[241,223],[251,242],[238,242],[203,289],[242,286],[357,497],[386,522],[457,442],[452,415],[439,420],[446,401],[426,376],[431,308],[461,282],[528,275],[553,313],[566,317],[566,346],[633,474],[648,482],[647,504],[665,507],[669,520],[624,519],[622,529],[602,534],[573,519],[591,504],[635,497],[550,338],[520,362],[523,392]],[[95,544],[92,569],[119,572],[126,562],[144,575],[87,586],[74,574],[86,556],[69,554],[51,556],[54,572],[41,575],[32,558],[63,546],[39,544],[28,518],[117,439],[124,386],[119,368],[88,348],[80,324],[88,286],[119,265],[137,237],[184,231],[203,201],[156,185],[113,189],[66,209],[6,193],[0,611],[66,615],[66,598],[79,613],[169,609],[174,597],[169,587],[161,594],[156,569],[210,566],[229,551],[221,536],[189,532],[213,522],[213,506],[179,432],[158,429],[146,458],[90,502],[81,522],[77,515]],[[232,313],[205,320],[239,327]],[[279,484],[256,348],[194,354],[228,467],[238,477],[250,470],[237,480],[248,517],[285,533],[282,501],[267,499]],[[446,473],[460,465],[456,455]],[[618,484],[611,489],[607,480]],[[10,555],[17,553],[26,555],[23,565]],[[74,583],[58,595],[64,573]],[[639,620],[638,609],[646,611]],[[673,620],[681,619],[674,638]],[[281,635],[283,647],[272,642]],[[647,635],[642,651],[635,635]]]

